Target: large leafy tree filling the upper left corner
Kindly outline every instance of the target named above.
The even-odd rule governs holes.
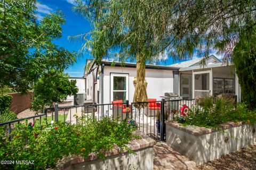
[[[64,15],[58,11],[38,21],[36,9],[35,0],[0,2],[0,88],[25,93],[45,72],[75,62],[74,52],[52,43],[61,37]]]

